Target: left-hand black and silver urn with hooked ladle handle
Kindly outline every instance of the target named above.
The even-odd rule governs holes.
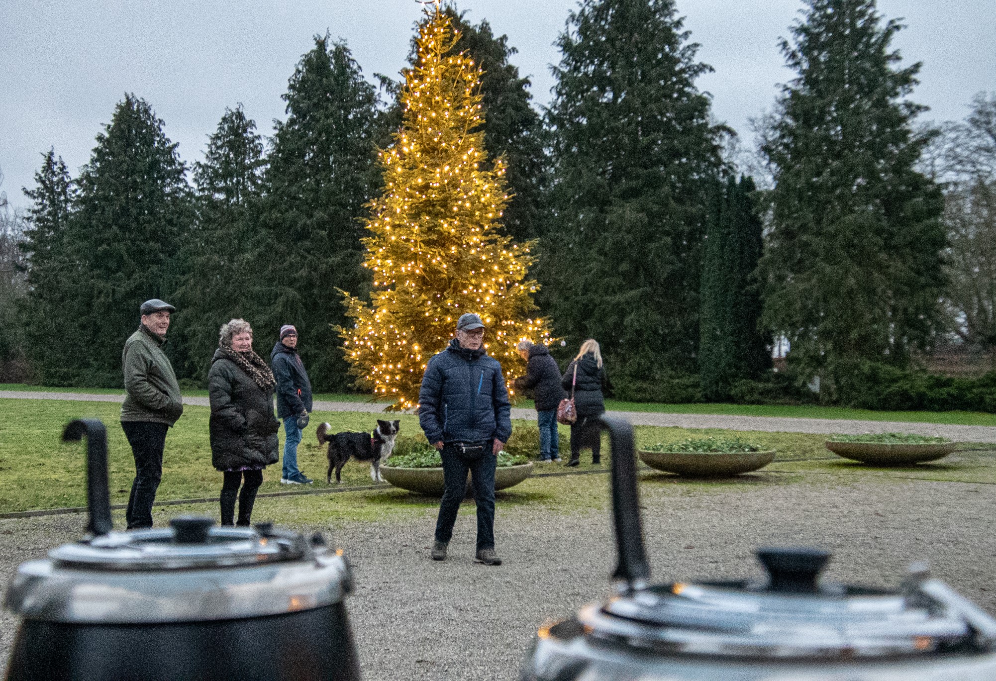
[[[74,421],[63,438],[84,435],[89,534],[18,568],[9,681],[360,678],[340,552],[269,523],[114,532],[104,424]]]

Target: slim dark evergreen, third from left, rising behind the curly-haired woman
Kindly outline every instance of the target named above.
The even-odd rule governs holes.
[[[194,164],[197,220],[184,246],[187,275],[178,298],[183,325],[177,332],[188,357],[185,373],[200,380],[210,368],[220,326],[251,312],[244,291],[257,277],[249,256],[265,164],[262,137],[242,105],[225,110],[204,160]]]

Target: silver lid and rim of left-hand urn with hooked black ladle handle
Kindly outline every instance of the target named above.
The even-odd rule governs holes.
[[[52,622],[151,623],[235,619],[341,601],[353,585],[342,552],[271,523],[217,528],[181,517],[161,529],[115,532],[107,434],[74,421],[64,439],[88,440],[88,534],[18,568],[6,606]]]

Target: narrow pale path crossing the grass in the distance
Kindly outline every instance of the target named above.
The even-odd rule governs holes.
[[[0,398],[71,399],[93,402],[121,402],[124,394],[98,395],[83,392],[35,392],[0,390]],[[208,406],[207,397],[184,397],[184,404]],[[315,402],[321,411],[364,411],[376,413],[383,406],[370,402]],[[771,416],[728,416],[721,414],[667,414],[645,411],[611,411],[633,425],[677,426],[679,428],[728,428],[763,430],[776,433],[917,433],[941,435],[960,442],[996,442],[996,426],[908,423],[905,421],[856,421],[829,418],[775,418]],[[534,409],[512,409],[512,418],[536,420]]]

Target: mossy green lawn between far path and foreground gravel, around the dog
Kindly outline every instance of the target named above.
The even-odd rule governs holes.
[[[159,500],[215,497],[221,488],[221,473],[211,466],[208,444],[207,407],[187,406],[176,426],[166,436],[162,483]],[[121,429],[121,407],[113,402],[78,402],[71,400],[0,400],[0,513],[78,507],[86,505],[84,447],[79,443],[60,441],[66,423],[79,417],[96,417],[108,427],[111,501],[127,502],[134,465],[131,450]],[[416,416],[399,414],[402,435],[420,433]],[[298,448],[300,468],[316,480],[309,489],[327,487],[325,448],[315,439],[315,427],[322,421],[338,430],[372,430],[373,414],[361,412],[321,412],[312,415]],[[535,428],[535,424],[517,421],[516,427]],[[726,431],[707,429],[690,431],[682,428],[638,426],[639,444],[668,442],[692,434],[722,434]],[[827,456],[824,437],[799,433],[742,433],[765,448],[779,451],[779,459],[812,459]],[[281,431],[281,446],[283,432]],[[513,435],[514,437],[514,435]],[[565,460],[569,452],[568,429],[562,427],[561,453]],[[608,439],[603,444],[608,454]],[[585,452],[580,470],[592,468],[591,456]],[[563,471],[557,465],[543,465],[538,472]],[[582,476],[584,477],[584,476]],[[553,480],[551,478],[551,480]],[[351,461],[343,470],[344,485],[371,485],[370,466]],[[333,483],[335,485],[335,482]],[[264,472],[261,492],[300,490],[297,486],[280,484],[280,467],[270,466]],[[385,488],[384,494],[403,494]],[[336,496],[336,495],[333,495]],[[389,498],[389,497],[388,497]],[[325,503],[325,502],[323,502]],[[333,503],[333,502],[329,502]]]

